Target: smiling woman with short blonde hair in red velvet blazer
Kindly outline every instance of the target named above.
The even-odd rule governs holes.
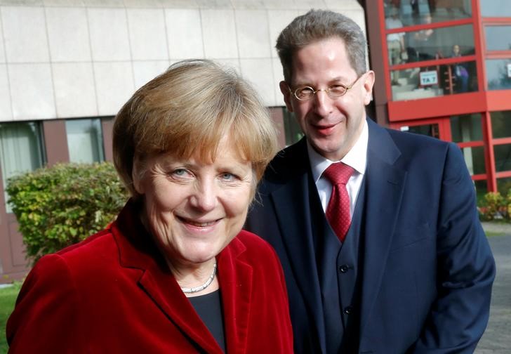
[[[277,254],[241,230],[277,150],[255,90],[211,61],[176,63],[121,108],[113,150],[131,199],[36,263],[10,353],[292,353]]]

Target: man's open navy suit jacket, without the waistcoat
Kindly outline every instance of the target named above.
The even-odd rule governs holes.
[[[368,124],[359,353],[472,353],[495,264],[460,149]],[[305,140],[280,152],[247,222],[279,254],[297,353],[326,348],[310,173]]]

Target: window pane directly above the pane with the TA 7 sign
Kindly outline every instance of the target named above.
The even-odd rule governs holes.
[[[472,25],[421,29],[406,34],[406,52],[409,62],[473,55],[474,31]],[[454,46],[459,51],[455,53]]]

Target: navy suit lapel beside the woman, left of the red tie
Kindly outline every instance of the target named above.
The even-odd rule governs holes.
[[[274,190],[270,198],[274,204],[277,220],[284,240],[295,280],[300,292],[314,316],[317,336],[325,351],[324,315],[321,305],[317,263],[314,255],[312,222],[310,214],[310,188],[308,155],[305,140],[298,151],[293,152],[293,171],[286,173],[286,181]]]

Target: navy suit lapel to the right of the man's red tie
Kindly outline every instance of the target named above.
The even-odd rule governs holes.
[[[389,133],[369,119],[368,123],[361,334],[380,289],[406,180],[406,171],[394,166],[401,153]]]

